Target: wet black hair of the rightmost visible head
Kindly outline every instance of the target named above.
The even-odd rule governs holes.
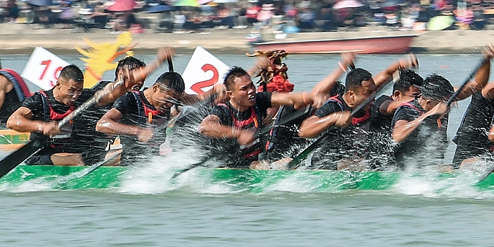
[[[437,74],[425,78],[422,85],[422,97],[429,100],[443,101],[454,94],[454,88],[449,80]]]

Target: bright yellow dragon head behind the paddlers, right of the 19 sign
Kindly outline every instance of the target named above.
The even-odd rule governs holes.
[[[105,71],[112,71],[117,68],[117,63],[114,62],[118,56],[126,54],[133,56],[131,51],[136,44],[131,45],[132,35],[130,32],[122,32],[118,35],[114,43],[96,44],[84,38],[84,41],[90,46],[88,49],[76,47],[76,50],[86,56],[81,60],[86,62],[86,72],[84,73],[84,86],[91,88],[101,80],[101,76]],[[119,51],[120,47],[124,47]]]

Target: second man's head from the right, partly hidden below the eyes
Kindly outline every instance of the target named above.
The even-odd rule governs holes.
[[[400,71],[399,80],[393,84],[393,100],[413,100],[421,94],[423,78],[410,69]]]

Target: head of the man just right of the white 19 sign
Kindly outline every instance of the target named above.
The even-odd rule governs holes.
[[[71,64],[60,71],[59,80],[55,85],[53,96],[55,100],[70,106],[81,96],[84,76],[80,68]]]

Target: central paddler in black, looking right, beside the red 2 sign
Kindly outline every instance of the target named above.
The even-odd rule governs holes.
[[[257,92],[249,74],[233,67],[224,81],[228,102],[218,104],[199,125],[199,132],[212,138],[214,155],[224,167],[264,168],[258,161],[263,150],[259,133],[263,132],[262,112],[269,107],[312,104],[311,93]]]

